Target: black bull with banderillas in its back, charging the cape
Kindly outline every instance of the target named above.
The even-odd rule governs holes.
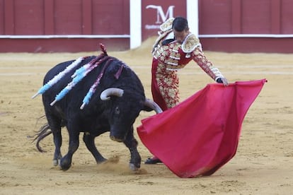
[[[96,67],[77,83],[64,98],[52,103],[56,95],[72,81],[76,69],[95,61]],[[59,72],[64,71],[73,61],[65,61],[47,72],[44,85]],[[93,83],[100,77],[91,100],[81,109],[84,97]],[[96,136],[110,131],[110,138],[125,143],[130,150],[130,168],[137,170],[141,157],[137,151],[137,140],[133,135],[133,124],[139,112],[155,110],[161,112],[156,103],[146,99],[144,88],[137,75],[122,61],[108,57],[106,52],[99,57],[86,57],[79,65],[64,75],[57,83],[42,93],[45,116],[48,124],[40,130],[37,146],[48,134],[54,137],[54,165],[62,170],[71,167],[72,155],[79,147],[79,134],[84,132],[84,143],[97,163],[106,159],[98,152],[94,139]],[[62,158],[62,126],[69,132],[69,150]],[[50,129],[51,131],[47,131]],[[41,151],[40,147],[38,149]]]

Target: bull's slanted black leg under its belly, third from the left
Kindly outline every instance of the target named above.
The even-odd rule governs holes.
[[[93,157],[96,159],[97,163],[105,162],[107,159],[103,158],[103,155],[101,155],[98,152],[98,149],[96,148],[95,137],[96,136],[93,136],[93,135],[89,134],[88,132],[85,132],[84,133],[84,143],[86,143],[86,148],[88,148],[88,150],[90,150]]]

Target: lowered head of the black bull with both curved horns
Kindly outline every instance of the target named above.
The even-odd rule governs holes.
[[[124,93],[125,91],[120,88],[108,88],[103,90],[102,93],[100,93],[100,99],[110,100],[111,96],[122,98]],[[110,138],[112,140],[114,141],[125,140],[125,137],[127,136],[128,131],[132,129],[132,125],[141,110],[145,110],[148,112],[150,112],[151,110],[154,110],[156,113],[162,112],[159,105],[157,105],[156,102],[152,100],[145,99],[144,101],[139,101],[138,103],[139,105],[137,105],[137,102],[130,102],[130,100],[127,100],[125,102],[122,102],[123,105],[115,105],[115,107],[113,108],[114,109],[113,116],[112,116],[113,121],[110,122],[110,126],[111,126]],[[125,128],[127,128],[128,131],[125,131]],[[117,132],[117,129],[120,129],[120,131]]]

